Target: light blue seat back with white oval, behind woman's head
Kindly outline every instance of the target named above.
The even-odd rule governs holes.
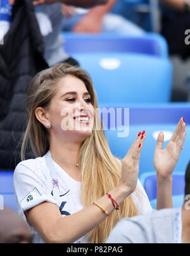
[[[73,57],[91,75],[99,104],[170,102],[173,71],[167,59],[129,53]]]

